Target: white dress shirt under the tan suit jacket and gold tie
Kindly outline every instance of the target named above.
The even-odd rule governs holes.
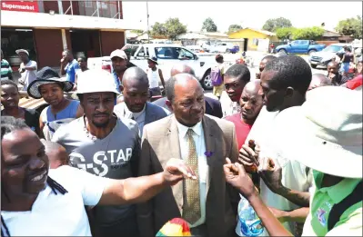
[[[189,152],[189,147],[187,144],[187,130],[189,127],[178,123],[176,121],[177,131],[179,134],[179,145],[180,152],[183,160],[187,160],[187,155]],[[197,227],[206,222],[206,202],[207,202],[207,178],[208,178],[208,165],[207,165],[207,157],[206,157],[206,142],[204,139],[204,131],[202,122],[197,123],[195,126],[190,127],[193,129],[193,139],[196,143],[197,149],[197,157],[198,157],[198,172],[199,172],[199,190],[200,190],[200,211],[201,217],[195,222],[193,225],[190,225],[191,228]]]

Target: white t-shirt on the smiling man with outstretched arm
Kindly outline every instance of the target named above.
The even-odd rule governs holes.
[[[39,193],[32,211],[1,211],[11,236],[92,236],[85,205],[94,206],[101,199],[107,179],[61,166],[49,170],[49,177],[68,193],[55,195],[46,185]],[[8,236],[4,223],[2,232]]]

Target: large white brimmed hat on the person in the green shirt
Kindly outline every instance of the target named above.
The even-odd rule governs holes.
[[[277,115],[282,153],[322,173],[362,178],[362,93],[322,86]]]

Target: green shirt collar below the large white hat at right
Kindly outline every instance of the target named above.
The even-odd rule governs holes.
[[[321,187],[324,173],[313,170],[314,182],[317,190],[321,193],[328,193],[333,202],[338,203],[343,201],[350,193],[354,191],[361,179],[343,179],[339,183],[330,187]]]

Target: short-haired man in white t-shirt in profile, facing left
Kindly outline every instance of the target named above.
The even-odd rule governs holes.
[[[305,165],[293,161],[293,157],[285,157],[284,153],[274,148],[273,142],[278,133],[274,129],[274,123],[279,112],[293,106],[300,106],[305,102],[305,94],[311,77],[309,65],[296,55],[279,57],[266,64],[261,74],[261,87],[265,94],[266,106],[263,107],[248,133],[246,144],[240,150],[239,159],[245,167],[248,167],[248,170],[251,170],[250,166],[254,165],[252,156],[260,160],[260,163],[267,157],[279,163],[282,168],[283,188],[281,185],[279,190],[270,190],[269,183],[273,181],[261,176],[263,180],[260,181],[260,195],[262,200],[273,208],[277,217],[280,217],[279,214],[288,217],[285,219],[288,221],[283,224],[287,230],[295,234],[298,232],[294,231],[294,222],[301,222],[301,218],[295,218],[296,210],[308,214],[307,210],[301,207],[308,207],[308,189],[312,184],[312,177]],[[259,153],[255,153],[248,147],[249,140],[257,143],[260,148]]]

